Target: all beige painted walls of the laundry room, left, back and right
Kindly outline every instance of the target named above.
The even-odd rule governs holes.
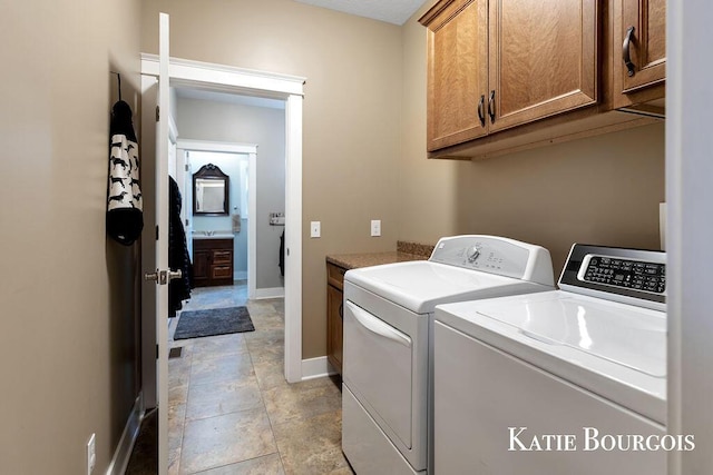
[[[426,31],[413,19],[401,29],[291,0],[3,2],[1,473],[82,473],[91,433],[95,473],[106,472],[138,388],[140,270],[105,234],[108,71],[136,107],[137,53],[156,51],[159,10],[173,56],[307,78],[305,358],[325,353],[328,253],[491,232],[549,247],[559,267],[573,241],[657,245],[663,126],[478,164],[426,160]],[[371,218],[383,237],[369,237]]]

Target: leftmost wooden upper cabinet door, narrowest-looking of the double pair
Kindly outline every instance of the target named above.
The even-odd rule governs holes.
[[[429,151],[487,133],[487,0],[460,0],[422,19],[428,26]]]

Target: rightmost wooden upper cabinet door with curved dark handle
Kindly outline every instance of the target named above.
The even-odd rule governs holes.
[[[666,0],[615,1],[614,47],[614,107],[663,99]]]

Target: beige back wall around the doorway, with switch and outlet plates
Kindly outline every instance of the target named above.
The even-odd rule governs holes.
[[[143,50],[306,77],[303,144],[303,357],[326,353],[330,253],[391,250],[398,229],[401,29],[292,0],[149,0]],[[382,237],[369,236],[370,219]],[[322,221],[322,238],[309,224]]]

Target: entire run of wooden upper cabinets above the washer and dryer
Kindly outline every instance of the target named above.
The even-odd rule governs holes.
[[[419,19],[428,157],[484,159],[655,122],[644,116],[663,110],[665,9],[665,0],[438,1]]]

